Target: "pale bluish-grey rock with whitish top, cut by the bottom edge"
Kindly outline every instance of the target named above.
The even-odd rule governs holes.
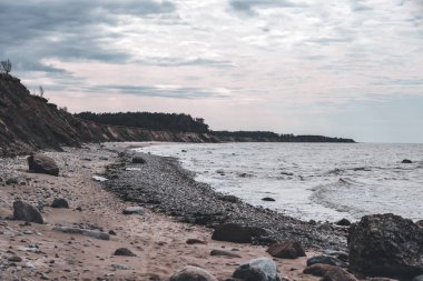
[[[235,270],[233,278],[243,281],[281,281],[275,262],[267,258],[254,259],[242,264]]]

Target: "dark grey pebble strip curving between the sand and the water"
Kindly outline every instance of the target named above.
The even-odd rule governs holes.
[[[144,163],[132,163],[135,157],[144,159]],[[148,207],[178,221],[208,228],[229,222],[249,227],[262,232],[253,240],[255,244],[288,240],[298,241],[309,250],[346,249],[346,228],[301,221],[216,192],[210,185],[197,182],[195,174],[183,169],[175,158],[124,149],[119,161],[107,167],[105,178],[109,179],[106,189],[124,201]]]

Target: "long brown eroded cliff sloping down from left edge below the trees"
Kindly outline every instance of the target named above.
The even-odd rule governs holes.
[[[215,142],[209,134],[155,131],[98,124],[73,118],[31,96],[20,80],[0,74],[0,155],[28,154],[38,149],[60,150],[82,142],[178,141]]]

